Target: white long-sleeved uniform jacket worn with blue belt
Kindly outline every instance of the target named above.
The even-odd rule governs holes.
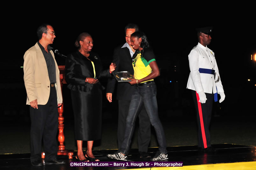
[[[204,93],[224,92],[221,80],[215,83],[213,74],[199,73],[199,68],[215,70],[216,77],[219,69],[212,50],[198,43],[188,55],[190,74],[187,89],[203,91]],[[216,89],[217,87],[217,89]]]

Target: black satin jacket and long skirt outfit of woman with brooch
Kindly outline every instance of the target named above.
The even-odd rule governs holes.
[[[102,63],[96,53],[88,57],[95,66],[96,78],[111,77],[108,70],[102,70]],[[101,138],[102,124],[102,85],[85,82],[87,77],[94,77],[91,61],[78,50],[68,55],[66,60],[66,81],[71,90],[71,99],[75,117],[76,140],[98,140]]]

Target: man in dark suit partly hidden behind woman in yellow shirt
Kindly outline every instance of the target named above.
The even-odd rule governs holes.
[[[134,74],[132,67],[132,56],[135,50],[131,46],[130,37],[133,32],[139,31],[138,25],[128,24],[125,27],[125,40],[124,45],[118,46],[114,51],[113,62],[116,63],[116,71],[129,71]],[[116,80],[110,79],[107,84],[106,96],[109,102],[112,102],[112,94],[115,89]],[[117,83],[117,100],[118,100],[118,127],[117,127],[117,140],[118,149],[121,148],[121,144],[124,139],[124,131],[126,124],[126,117],[128,115],[129,106],[131,102],[134,86],[128,82]],[[151,136],[151,124],[147,115],[146,109],[143,109],[139,113],[139,132],[138,132],[138,145],[140,158],[150,158],[147,154],[148,145]]]

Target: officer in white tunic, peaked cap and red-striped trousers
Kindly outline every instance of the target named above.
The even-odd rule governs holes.
[[[211,27],[197,29],[198,44],[188,55],[190,74],[187,89],[191,89],[196,106],[198,147],[204,152],[214,152],[210,144],[209,125],[213,100],[225,99],[215,56],[207,45],[211,42]]]

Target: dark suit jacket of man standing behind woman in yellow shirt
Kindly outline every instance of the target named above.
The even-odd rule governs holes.
[[[132,67],[132,57],[130,51],[127,47],[121,48],[123,45],[118,46],[114,50],[113,63],[116,63],[116,71],[129,71],[132,75],[134,74]],[[115,78],[108,80],[106,93],[112,93],[115,89],[115,84],[117,83]],[[117,100],[131,100],[132,93],[135,90],[128,82],[117,83]]]

